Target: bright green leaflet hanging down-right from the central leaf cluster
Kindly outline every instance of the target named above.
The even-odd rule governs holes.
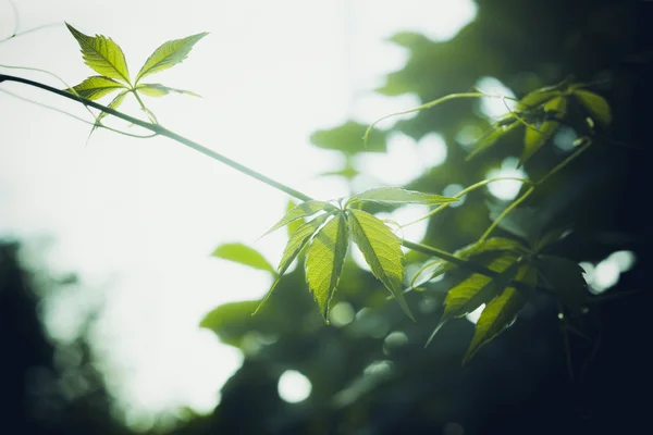
[[[402,240],[378,217],[362,210],[347,210],[352,236],[370,265],[372,274],[395,297],[404,312],[415,321],[406,299],[403,281]]]

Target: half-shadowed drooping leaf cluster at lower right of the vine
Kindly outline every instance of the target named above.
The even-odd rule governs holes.
[[[444,312],[427,345],[446,322],[465,316],[484,304],[465,355],[464,363],[469,361],[481,346],[515,322],[534,290],[540,289],[539,285],[554,294],[568,313],[579,314],[589,296],[582,269],[569,259],[543,253],[550,245],[568,234],[568,231],[555,229],[532,245],[494,237],[456,251],[456,257],[481,263],[496,274],[493,277],[479,273],[468,274],[448,290]],[[444,260],[429,262],[412,278],[412,285],[423,285],[455,269],[459,268]],[[428,277],[416,284],[427,272]]]

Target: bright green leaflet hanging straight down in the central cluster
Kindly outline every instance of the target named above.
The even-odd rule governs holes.
[[[306,281],[325,322],[329,319],[329,302],[343,271],[348,244],[345,216],[338,213],[318,231],[306,253]]]

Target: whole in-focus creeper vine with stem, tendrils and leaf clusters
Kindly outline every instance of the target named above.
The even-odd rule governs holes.
[[[415,318],[404,296],[407,290],[423,286],[438,276],[454,270],[465,273],[463,281],[448,289],[440,323],[428,340],[431,341],[447,321],[464,316],[481,304],[485,304],[476,324],[476,333],[464,362],[468,361],[481,346],[510,325],[534,291],[553,294],[558,298],[565,313],[569,315],[581,313],[588,303],[590,294],[587,291],[587,284],[580,266],[564,257],[544,253],[545,248],[568,234],[568,228],[534,234],[523,241],[491,236],[506,215],[521,204],[539,186],[546,183],[592,145],[597,125],[611,124],[609,104],[603,97],[589,90],[590,85],[565,80],[526,95],[517,100],[515,108],[509,113],[492,125],[468,156],[468,159],[477,158],[493,147],[502,136],[516,128],[522,128],[523,149],[519,164],[523,164],[537,156],[537,151],[541,147],[550,142],[560,124],[569,123],[567,121],[568,108],[576,104],[582,111],[583,117],[581,125],[572,126],[579,132],[583,132],[583,135],[575,141],[574,152],[535,182],[510,177],[484,179],[467,187],[455,197],[406,190],[401,187],[378,187],[349,198],[316,200],[167,129],[143,101],[141,96],[164,97],[170,92],[197,96],[189,90],[175,89],[158,83],[144,83],[144,79],[184,61],[193,46],[205,37],[206,33],[164,42],[145,61],[136,75],[131,75],[122,49],[111,38],[102,35],[88,36],[67,23],[66,26],[79,45],[84,62],[94,70],[96,75],[89,76],[75,86],[66,85],[64,89],[5,74],[0,74],[0,83],[15,82],[37,87],[78,101],[87,109],[97,110],[97,114],[91,112],[94,115],[91,134],[97,128],[108,128],[125,134],[104,125],[104,117],[112,115],[151,132],[150,136],[164,136],[193,148],[301,201],[291,208],[268,232],[271,233],[286,225],[289,228],[289,239],[278,268],[273,268],[260,253],[242,244],[221,245],[213,252],[214,257],[267,270],[275,276],[272,287],[256,311],[264,309],[263,303],[269,297],[273,297],[274,288],[283,279],[291,263],[301,252],[305,252],[308,288],[312,293],[321,315],[328,322],[330,301],[337,289],[350,240],[362,252],[372,274],[383,283],[392,298],[412,320]],[[97,102],[110,95],[113,95],[113,98],[108,104]],[[147,116],[147,121],[118,111],[124,99],[130,96],[136,99]],[[480,91],[452,94],[419,108],[380,119],[369,126],[361,140],[367,144],[373,126],[386,117],[427,110],[453,99],[480,97],[505,99],[501,96],[488,96]],[[506,179],[520,182],[522,184],[521,195],[498,214],[476,243],[453,253],[403,239],[385,222],[365,210],[370,203],[389,207],[416,203],[436,206],[421,217],[429,219],[443,212],[464,195],[490,183]],[[404,284],[408,281],[405,276],[402,245],[433,258],[410,278],[410,285],[407,288]]]

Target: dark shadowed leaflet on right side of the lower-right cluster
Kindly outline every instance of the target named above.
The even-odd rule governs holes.
[[[571,314],[579,314],[588,296],[583,270],[575,261],[556,256],[538,256],[538,272]]]

